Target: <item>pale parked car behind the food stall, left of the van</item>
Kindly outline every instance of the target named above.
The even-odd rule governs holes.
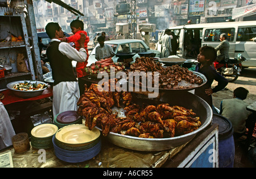
[[[137,57],[139,57],[138,53],[142,52],[153,52],[156,54],[155,57],[160,57],[160,52],[150,49],[142,40],[138,39],[121,39],[121,40],[108,40],[105,41],[105,44],[110,45],[113,48],[115,54],[123,53],[123,52],[135,52],[136,54],[133,56],[133,61]],[[99,44],[98,44],[99,45]],[[96,45],[96,47],[98,46]],[[95,51],[96,47],[93,48],[92,52],[90,52],[89,59],[88,59],[88,66],[90,64],[95,63],[97,60],[95,59]],[[117,62],[118,57],[112,57],[114,62]],[[76,61],[72,61],[73,66],[76,66]]]

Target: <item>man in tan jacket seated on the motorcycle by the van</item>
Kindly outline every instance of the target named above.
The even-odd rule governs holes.
[[[217,58],[218,62],[227,62],[229,59],[229,41],[226,40],[228,36],[226,34],[220,35],[221,43],[215,48],[217,51]]]

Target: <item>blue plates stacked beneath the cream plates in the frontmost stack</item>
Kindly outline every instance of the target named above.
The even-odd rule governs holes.
[[[60,148],[55,143],[55,136],[52,138],[52,143],[55,151],[55,155],[58,159],[68,163],[80,163],[86,160],[90,160],[101,151],[101,140],[91,148],[82,151],[68,151]]]

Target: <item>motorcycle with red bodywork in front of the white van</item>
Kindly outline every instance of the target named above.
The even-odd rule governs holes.
[[[246,61],[245,57],[238,54],[237,58],[229,59],[224,63],[214,61],[213,64],[218,73],[224,76],[229,82],[234,82],[241,74],[243,61]]]

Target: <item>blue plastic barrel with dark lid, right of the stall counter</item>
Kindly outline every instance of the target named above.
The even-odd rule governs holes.
[[[213,123],[218,124],[218,167],[233,168],[235,146],[232,123],[219,114],[213,114]]]

